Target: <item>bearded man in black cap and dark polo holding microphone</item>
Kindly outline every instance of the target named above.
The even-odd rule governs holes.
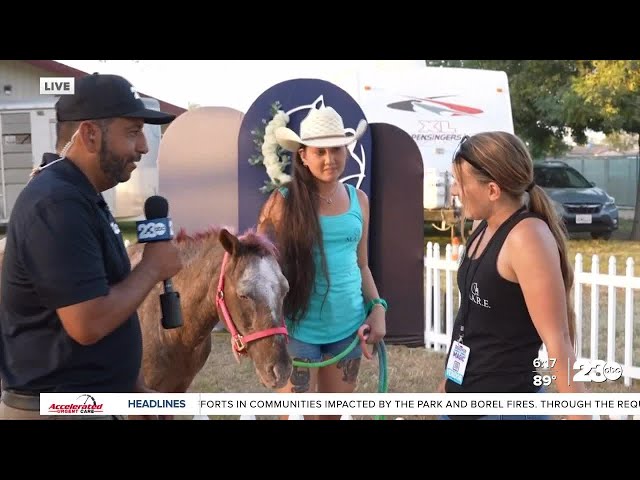
[[[101,193],[128,181],[147,153],[144,124],[175,116],[146,109],[124,78],[99,74],[76,79],[56,114],[67,142],[20,193],[7,230],[0,419],[111,419],[41,416],[39,394],[149,391],[136,310],[182,268],[166,241],[147,243],[132,270]]]

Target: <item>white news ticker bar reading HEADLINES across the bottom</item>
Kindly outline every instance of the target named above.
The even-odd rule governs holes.
[[[640,415],[640,393],[43,393],[41,415]]]

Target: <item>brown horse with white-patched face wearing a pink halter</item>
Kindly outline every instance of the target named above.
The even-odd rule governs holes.
[[[249,357],[265,387],[283,387],[293,368],[283,320],[289,284],[275,246],[253,230],[236,236],[219,227],[194,235],[181,230],[173,242],[183,264],[172,282],[184,320],[178,328],[162,326],[162,283],[138,307],[145,386],[158,392],[188,391],[211,353],[211,332],[223,321],[236,359]],[[143,250],[141,243],[127,247],[132,268]],[[0,268],[3,257],[4,251]]]

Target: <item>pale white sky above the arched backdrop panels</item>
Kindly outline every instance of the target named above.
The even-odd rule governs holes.
[[[127,78],[138,91],[188,108],[235,108],[246,112],[273,85],[293,78],[318,78],[335,83],[352,96],[357,70],[416,68],[424,60],[56,60],[79,70],[113,73]]]

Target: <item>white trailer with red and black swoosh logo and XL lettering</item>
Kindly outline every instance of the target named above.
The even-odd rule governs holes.
[[[370,123],[395,125],[418,145],[425,220],[453,221],[451,161],[462,137],[489,130],[513,133],[506,73],[426,66],[361,71],[358,91],[356,100]]]

